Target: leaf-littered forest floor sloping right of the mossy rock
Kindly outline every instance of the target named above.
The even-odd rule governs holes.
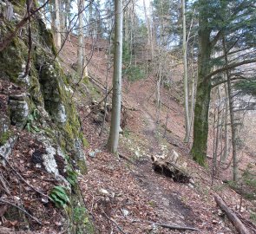
[[[89,52],[90,45],[87,49]],[[75,56],[74,46],[68,43],[62,51],[62,58],[69,58],[69,61],[63,60],[66,71],[70,71]],[[95,87],[89,83],[80,85],[89,94],[86,98],[79,92],[75,94],[83,132],[89,140],[89,147],[85,149],[88,174],[79,179],[99,233],[181,233],[154,223],[199,230],[194,233],[236,233],[233,225],[220,213],[213,195],[220,194],[233,209],[240,205],[240,195],[223,184],[220,177],[213,179],[212,183],[210,161],[209,167],[203,168],[191,159],[189,146],[182,141],[185,129],[179,101],[181,94],[177,88],[162,90],[163,105],[156,124],[154,79],[125,80],[122,104],[126,111],[119,153],[129,160],[108,153],[105,146],[109,122],[99,136],[102,122],[96,112],[89,112],[91,101],[101,101],[104,96],[99,87],[105,83],[106,64],[105,52],[95,51],[89,63],[89,75],[98,84]],[[108,86],[111,77],[110,71]],[[175,183],[173,179],[154,172],[150,156],[167,155],[173,150],[186,162],[194,185]],[[226,177],[230,176],[231,173],[226,172]],[[242,207],[250,206],[250,202],[242,201]],[[248,218],[249,212],[243,211],[242,215]]]

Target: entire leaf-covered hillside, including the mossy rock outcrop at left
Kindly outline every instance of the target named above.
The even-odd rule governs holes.
[[[0,234],[239,233],[218,198],[248,234],[256,233],[253,112],[240,133],[241,177],[234,183],[232,153],[223,164],[218,158],[213,172],[218,101],[212,95],[207,164],[200,166],[190,154],[193,137],[183,141],[181,55],[166,53],[169,82],[160,82],[158,109],[157,65],[139,44],[135,65],[122,65],[134,77],[122,76],[118,155],[109,153],[113,55],[108,42],[103,36],[84,38],[89,75],[78,75],[77,36],[67,34],[57,49],[56,35],[33,11],[36,2],[30,27],[16,29],[27,19],[23,5],[0,0],[0,35],[11,38],[7,46],[8,40],[0,42]],[[13,10],[10,17],[6,9]],[[143,66],[147,75],[139,73]],[[221,150],[222,144],[223,137]]]

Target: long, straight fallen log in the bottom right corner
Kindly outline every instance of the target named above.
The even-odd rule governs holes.
[[[224,200],[219,195],[214,195],[214,200],[220,209],[226,213],[226,217],[233,223],[234,227],[240,234],[250,234],[251,232],[246,229],[246,226],[241,222],[240,218],[226,205]]]

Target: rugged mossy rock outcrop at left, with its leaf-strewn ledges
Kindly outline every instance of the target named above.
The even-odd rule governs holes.
[[[0,0],[1,40],[10,35],[25,16],[25,2]],[[33,7],[36,7],[36,4]],[[35,141],[35,147],[28,149],[31,153],[26,155],[31,157],[29,162],[32,162],[33,170],[37,168],[48,172],[61,185],[66,186],[69,192],[71,186],[73,192],[76,190],[75,193],[70,193],[68,214],[72,217],[76,205],[81,206],[82,197],[74,184],[71,185],[68,181],[70,174],[74,177],[76,173],[74,168],[79,169],[79,172],[86,172],[83,153],[83,143],[86,140],[83,138],[79,117],[72,101],[70,81],[63,73],[56,56],[52,33],[46,29],[40,13],[33,16],[31,30],[32,49],[30,71],[27,75],[27,25],[0,51],[2,166],[5,166],[13,148],[19,147],[23,135]],[[32,143],[30,145],[33,146]],[[26,165],[22,167],[26,168]],[[84,216],[86,215],[84,213]],[[71,223],[70,230],[75,228],[75,231],[80,230],[80,233],[89,233],[87,224],[89,221],[78,226]]]

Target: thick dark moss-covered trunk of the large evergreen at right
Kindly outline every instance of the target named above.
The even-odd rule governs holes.
[[[194,105],[194,142],[191,153],[193,159],[204,166],[207,157],[208,110],[211,97],[211,80],[206,77],[211,69],[212,52],[211,31],[207,28],[205,12],[200,12],[199,24],[198,81]]]

